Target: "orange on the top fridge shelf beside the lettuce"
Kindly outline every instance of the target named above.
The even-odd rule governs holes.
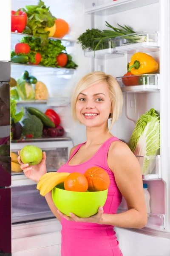
[[[55,38],[63,38],[63,36],[67,35],[69,26],[65,20],[57,19],[55,20],[56,31],[53,35]]]

